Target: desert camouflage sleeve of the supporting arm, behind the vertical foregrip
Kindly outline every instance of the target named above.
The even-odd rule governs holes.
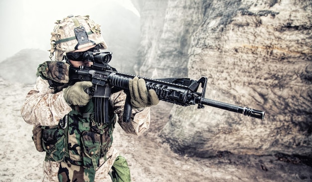
[[[146,107],[142,111],[132,109],[131,121],[129,123],[123,122],[126,97],[127,95],[124,91],[113,93],[110,97],[114,112],[118,115],[118,123],[126,133],[141,135],[150,127],[150,107]]]

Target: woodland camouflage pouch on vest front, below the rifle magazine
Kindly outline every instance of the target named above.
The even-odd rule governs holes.
[[[84,131],[81,137],[83,166],[87,169],[96,169],[99,167],[101,157],[101,135],[96,132]]]

